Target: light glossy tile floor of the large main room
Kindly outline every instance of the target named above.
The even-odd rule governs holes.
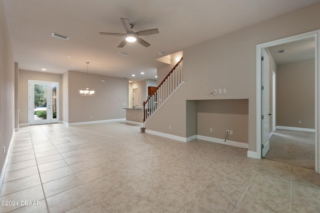
[[[125,123],[22,127],[13,136],[0,212],[320,212],[320,174],[246,152]]]

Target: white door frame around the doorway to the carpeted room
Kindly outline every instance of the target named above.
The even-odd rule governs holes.
[[[315,40],[315,172],[320,173],[320,134],[318,134],[320,133],[320,118],[318,117],[318,115],[320,115],[320,30],[314,30],[256,45],[256,153],[254,155],[252,152],[248,152],[248,156],[261,159],[261,49],[310,37],[314,37]]]

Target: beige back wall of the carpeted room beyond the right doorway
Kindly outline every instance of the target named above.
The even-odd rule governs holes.
[[[276,123],[314,129],[314,60],[277,66]],[[298,123],[301,121],[301,124]]]

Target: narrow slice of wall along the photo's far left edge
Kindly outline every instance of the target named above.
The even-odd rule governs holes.
[[[14,129],[14,60],[3,2],[0,1],[0,167],[4,165]],[[2,147],[6,151],[3,153]]]

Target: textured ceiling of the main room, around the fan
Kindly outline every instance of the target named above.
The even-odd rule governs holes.
[[[155,79],[156,68],[164,65],[157,58],[318,1],[3,0],[3,4],[19,69],[86,72],[89,61],[89,73],[137,81]],[[135,42],[118,48],[123,37],[99,32],[125,33],[121,17],[129,19],[134,31],[158,28],[159,34],[141,36],[149,47]],[[52,37],[52,32],[69,39]]]

